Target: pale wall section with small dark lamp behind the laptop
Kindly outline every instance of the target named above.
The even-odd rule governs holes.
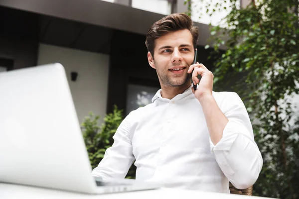
[[[109,55],[39,44],[38,65],[61,63],[66,70],[70,90],[80,123],[89,111],[106,115],[108,93]],[[78,72],[76,82],[70,73]]]

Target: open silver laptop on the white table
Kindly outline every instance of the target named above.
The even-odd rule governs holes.
[[[89,194],[156,185],[98,182],[61,64],[0,73],[0,182]]]

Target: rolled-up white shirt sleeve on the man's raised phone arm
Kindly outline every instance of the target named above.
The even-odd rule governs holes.
[[[247,189],[259,177],[263,166],[261,152],[254,141],[253,129],[243,101],[236,93],[222,102],[221,110],[228,118],[221,140],[211,152],[224,175],[237,189]]]

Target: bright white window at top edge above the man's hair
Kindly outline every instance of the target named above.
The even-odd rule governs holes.
[[[171,13],[169,0],[132,0],[132,7],[164,15]]]

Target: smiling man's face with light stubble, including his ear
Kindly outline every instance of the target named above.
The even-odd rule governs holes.
[[[190,84],[187,71],[194,59],[194,47],[189,30],[177,30],[156,39],[153,54],[154,59],[148,52],[149,65],[156,69],[161,86]]]

